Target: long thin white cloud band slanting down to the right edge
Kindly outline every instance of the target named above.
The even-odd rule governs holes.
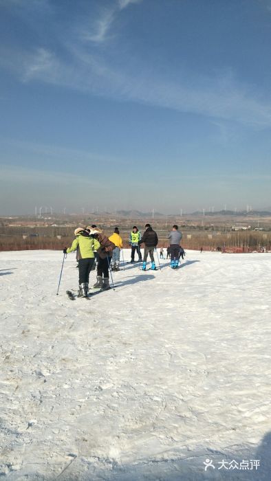
[[[168,80],[144,67],[135,72],[116,69],[98,56],[74,48],[71,62],[64,62],[52,52],[37,49],[32,54],[17,55],[20,63],[12,63],[22,80],[39,80],[107,96],[116,100],[141,102],[185,113],[207,115],[220,120],[235,120],[258,127],[271,126],[271,104],[261,100],[248,85],[239,83],[225,71],[209,78],[198,78],[188,84]],[[10,58],[10,56],[9,56]],[[3,59],[3,56],[2,56]],[[16,67],[15,67],[16,65]]]

